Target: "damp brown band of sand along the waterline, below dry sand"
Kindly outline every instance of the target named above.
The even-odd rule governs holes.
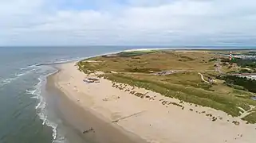
[[[56,87],[58,73],[50,75],[47,79],[47,88],[57,94],[56,104],[58,116],[69,129],[65,133],[70,142],[76,143],[144,143],[139,136],[130,133],[112,122],[107,122],[100,114],[93,110],[78,106],[69,99],[63,91]]]

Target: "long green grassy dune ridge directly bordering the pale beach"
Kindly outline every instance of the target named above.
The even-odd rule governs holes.
[[[133,79],[127,75],[110,74],[105,78],[117,83],[127,83],[131,86],[143,87],[148,90],[156,91],[161,95],[176,98],[185,102],[195,103],[201,106],[208,106],[216,110],[223,110],[232,116],[239,116],[242,107],[249,110],[250,106],[246,100],[240,100],[232,95],[216,94],[214,91],[205,91],[195,87],[184,87],[173,83],[160,83],[148,79]]]

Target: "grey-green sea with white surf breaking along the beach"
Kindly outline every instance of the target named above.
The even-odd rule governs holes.
[[[131,48],[145,47],[0,47],[0,143],[78,143],[46,98],[57,94],[45,86],[52,64]]]

